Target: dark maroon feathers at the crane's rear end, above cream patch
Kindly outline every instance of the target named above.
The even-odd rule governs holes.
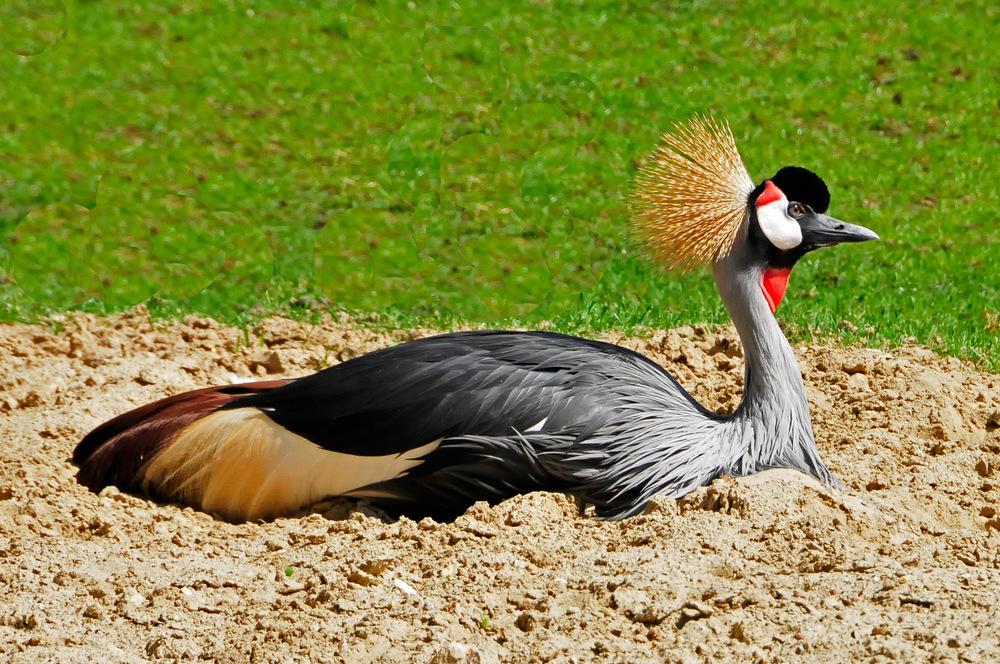
[[[287,380],[206,387],[140,406],[100,425],[76,446],[76,480],[94,492],[115,485],[137,491],[136,475],[170,438],[195,420],[245,396],[288,384]]]

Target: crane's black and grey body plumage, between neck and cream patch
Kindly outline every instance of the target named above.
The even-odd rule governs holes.
[[[410,512],[447,514],[548,489],[619,516],[672,484],[719,472],[682,472],[692,457],[711,457],[691,425],[712,429],[718,418],[670,374],[631,350],[552,333],[430,337],[239,403],[247,405],[348,454],[398,454],[440,440],[404,475],[354,492]]]

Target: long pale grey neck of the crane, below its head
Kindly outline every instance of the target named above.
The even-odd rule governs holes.
[[[728,471],[790,467],[838,483],[820,459],[798,360],[761,292],[761,268],[738,246],[714,273],[746,358],[743,401],[727,423]]]

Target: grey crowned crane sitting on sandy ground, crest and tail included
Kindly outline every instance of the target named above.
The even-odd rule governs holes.
[[[828,217],[829,202],[804,168],[754,186],[728,125],[707,118],[665,134],[638,177],[637,231],[668,266],[710,263],[739,331],[746,380],[731,415],[618,346],[458,332],[304,378],[135,409],[79,443],[77,478],[232,521],[291,515],[333,496],[447,517],[534,490],[573,494],[617,519],[723,475],[789,467],[836,483],[773,315],[806,252],[878,237]]]

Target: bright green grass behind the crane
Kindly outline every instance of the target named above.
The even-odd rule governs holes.
[[[4,3],[0,318],[153,295],[233,322],[723,322],[706,274],[636,259],[622,202],[658,129],[711,113],[755,180],[812,168],[883,238],[800,264],[793,336],[1000,369],[995,3],[313,4]]]

